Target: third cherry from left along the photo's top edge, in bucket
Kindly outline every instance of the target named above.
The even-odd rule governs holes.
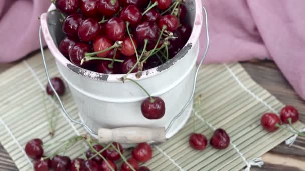
[[[111,0],[100,0],[98,10],[104,16],[113,16],[120,10],[119,0],[116,0],[114,4]]]

